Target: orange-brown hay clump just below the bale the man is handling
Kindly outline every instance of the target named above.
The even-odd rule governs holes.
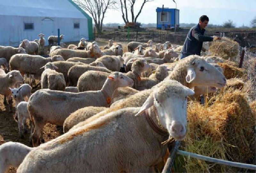
[[[244,77],[244,74],[245,74],[244,69],[231,66],[228,63],[218,63],[218,64],[223,69],[223,74],[227,79]]]

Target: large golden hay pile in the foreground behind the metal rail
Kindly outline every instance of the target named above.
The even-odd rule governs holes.
[[[223,160],[255,164],[255,112],[241,90],[222,90],[203,106],[188,104],[188,134],[181,150]],[[175,172],[245,172],[178,155]]]

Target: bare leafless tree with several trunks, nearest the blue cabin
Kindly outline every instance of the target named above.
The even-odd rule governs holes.
[[[152,1],[152,0],[143,0],[142,4],[140,6],[140,11],[138,12],[138,14],[134,18],[134,8],[133,7],[134,7],[134,4],[135,4],[136,0],[120,0],[121,10],[122,10],[122,14],[123,14],[122,17],[123,17],[124,23],[127,24],[129,22],[128,12],[127,12],[128,8],[130,8],[130,11],[131,11],[132,22],[136,23],[144,4],[146,2],[150,2],[150,1]],[[128,4],[128,6],[127,6],[127,4]],[[124,10],[125,10],[125,16],[124,16]]]

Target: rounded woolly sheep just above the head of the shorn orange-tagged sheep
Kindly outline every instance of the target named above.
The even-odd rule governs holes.
[[[96,59],[96,62],[102,62],[108,70],[111,71],[120,71],[120,68],[123,67],[124,60],[121,56],[108,56],[104,55]]]

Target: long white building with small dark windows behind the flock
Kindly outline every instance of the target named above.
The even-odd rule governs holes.
[[[63,42],[93,39],[92,18],[72,0],[0,0],[0,45],[17,47],[20,41],[64,34]]]

